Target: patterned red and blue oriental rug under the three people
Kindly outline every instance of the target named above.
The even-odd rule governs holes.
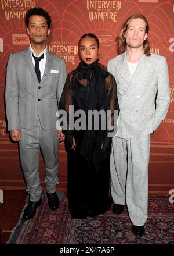
[[[126,208],[119,216],[111,208],[96,218],[71,219],[67,194],[61,197],[56,212],[43,195],[34,218],[23,221],[22,213],[8,244],[174,244],[174,204],[168,195],[149,196],[146,233],[140,239],[131,231]]]

